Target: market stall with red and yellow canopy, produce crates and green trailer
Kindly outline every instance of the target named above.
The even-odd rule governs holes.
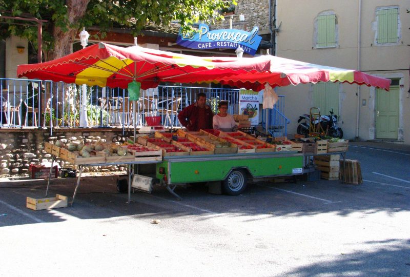
[[[219,82],[254,90],[263,89],[267,84],[276,87],[328,81],[388,90],[390,82],[356,70],[319,66],[270,55],[254,58],[195,57],[139,46],[122,48],[103,43],[55,61],[20,65],[17,75],[78,85],[128,88],[129,99],[134,101],[138,99],[140,88],[153,88],[160,82]],[[54,155],[53,159],[59,156],[63,160],[74,162],[80,168],[89,165],[155,163],[157,180],[170,192],[179,183],[223,181],[224,189],[229,194],[243,191],[248,174],[252,177],[302,174],[304,156],[324,154],[329,150],[329,145],[320,141],[301,146],[298,142],[288,143],[285,139],[280,143],[262,141],[240,132],[221,132],[218,135],[205,132],[177,133],[176,140],[172,136],[172,140],[168,137],[168,142],[166,137],[157,137],[161,141],[156,144],[155,141],[150,141],[152,137],[141,138],[136,142],[134,127],[134,141],[130,145],[116,146],[123,149],[117,155],[111,155],[114,147],[105,153],[94,149],[86,151],[86,154],[83,151],[71,156],[70,152],[63,150],[64,147],[57,149],[55,147],[58,146],[54,144],[51,148],[47,147]],[[178,141],[178,137],[183,138],[182,141]],[[158,155],[144,156],[137,153],[139,151],[131,151],[141,146],[149,149],[147,152],[156,152]],[[330,147],[332,148],[337,147]],[[344,150],[334,151],[335,154],[342,153],[344,158]],[[152,159],[152,156],[155,158]],[[129,199],[131,174],[129,170]],[[75,192],[80,175],[81,169]]]

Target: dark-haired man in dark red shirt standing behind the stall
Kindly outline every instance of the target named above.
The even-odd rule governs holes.
[[[214,113],[206,104],[207,95],[198,93],[196,103],[189,105],[178,113],[178,120],[188,131],[199,131],[200,129],[212,129],[212,118]]]

